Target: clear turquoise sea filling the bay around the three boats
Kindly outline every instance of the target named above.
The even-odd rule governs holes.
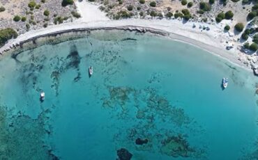
[[[0,159],[258,159],[257,77],[192,45],[92,31],[0,68]]]

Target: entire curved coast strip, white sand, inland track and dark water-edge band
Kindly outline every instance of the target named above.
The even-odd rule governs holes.
[[[202,48],[211,54],[225,58],[231,63],[241,66],[247,70],[253,69],[257,63],[257,56],[244,54],[238,50],[236,36],[232,37],[229,33],[223,32],[223,27],[217,24],[206,24],[202,22],[183,22],[179,19],[120,19],[111,20],[98,10],[98,6],[84,1],[75,2],[77,10],[82,18],[74,22],[67,22],[59,25],[48,26],[38,30],[31,30],[18,38],[9,40],[6,45],[0,48],[0,54],[19,49],[24,44],[40,38],[47,38],[56,35],[64,36],[65,33],[89,32],[93,30],[112,30],[119,29],[124,31],[137,31],[140,33],[150,32],[166,36],[172,40],[179,40],[190,45]],[[93,17],[89,16],[93,15]],[[196,26],[196,27],[193,27]],[[198,27],[199,26],[199,27]],[[208,27],[208,31],[202,27]],[[80,35],[77,35],[78,38]],[[72,36],[75,38],[76,36]],[[52,38],[52,41],[54,39]],[[227,50],[228,42],[236,42],[234,48]],[[253,69],[254,70],[254,69]]]

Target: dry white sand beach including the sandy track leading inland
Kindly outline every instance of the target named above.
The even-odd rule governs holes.
[[[101,27],[117,27],[117,26],[140,26],[150,27],[152,29],[159,29],[171,33],[171,38],[188,42],[192,45],[202,47],[216,55],[227,58],[229,61],[243,66],[243,62],[238,61],[240,58],[245,58],[245,54],[241,53],[234,47],[231,51],[225,49],[225,42],[227,40],[233,41],[234,38],[229,37],[228,33],[224,33],[221,26],[213,24],[202,24],[197,22],[183,22],[177,19],[121,19],[110,20],[105,17],[105,13],[98,10],[98,6],[89,2],[76,2],[77,10],[81,13],[82,18],[74,22],[48,26],[46,29],[39,29],[36,31],[29,31],[20,35],[14,40],[0,48],[0,53],[10,48],[15,44],[19,44],[23,40],[33,38],[38,35],[45,35],[47,33],[54,33],[56,31],[64,31],[67,29],[81,29],[81,28],[101,28]],[[195,24],[196,27],[192,28]],[[203,31],[199,26],[208,26],[210,31]],[[245,64],[246,67],[246,64]],[[249,66],[250,68],[250,66]]]

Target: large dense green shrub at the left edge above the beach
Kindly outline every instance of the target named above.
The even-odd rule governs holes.
[[[8,40],[17,38],[18,33],[14,29],[1,29],[0,30],[0,47],[2,47]]]

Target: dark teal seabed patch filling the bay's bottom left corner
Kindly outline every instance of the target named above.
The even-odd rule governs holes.
[[[0,106],[0,159],[58,159],[44,141],[48,113],[43,111],[36,119],[22,113],[9,116]]]

